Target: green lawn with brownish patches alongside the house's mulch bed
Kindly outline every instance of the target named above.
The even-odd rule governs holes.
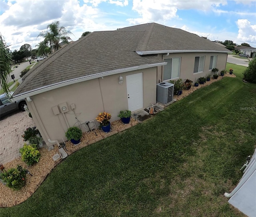
[[[256,84],[201,88],[155,117],[78,150],[1,217],[241,217],[225,192],[242,177],[256,136]]]

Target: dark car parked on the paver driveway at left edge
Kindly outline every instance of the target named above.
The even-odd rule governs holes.
[[[10,92],[12,95],[14,92]],[[25,111],[24,106],[27,105],[25,99],[12,101],[6,93],[0,95],[0,115],[4,116],[16,110]]]

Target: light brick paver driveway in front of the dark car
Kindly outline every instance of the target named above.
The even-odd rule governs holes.
[[[21,135],[35,126],[27,112],[13,112],[0,120],[0,163],[5,164],[20,156],[24,141]]]

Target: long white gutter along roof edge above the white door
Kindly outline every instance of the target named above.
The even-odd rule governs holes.
[[[92,80],[92,79],[96,79],[96,78],[100,78],[100,77],[105,77],[108,75],[116,75],[119,73],[124,73],[124,72],[128,72],[128,71],[135,71],[135,70],[140,70],[140,69],[147,69],[147,68],[151,68],[151,67],[157,67],[157,66],[161,66],[161,65],[166,65],[166,62],[162,62],[162,63],[153,63],[153,64],[145,64],[145,65],[139,65],[139,66],[133,66],[133,67],[128,67],[128,68],[124,68],[124,69],[116,69],[116,70],[112,70],[112,71],[105,71],[105,72],[101,72],[101,73],[97,73],[97,74],[93,74],[93,75],[86,75],[83,77],[79,77],[79,78],[75,78],[75,79],[70,79],[67,81],[61,81],[58,83],[54,83],[52,85],[46,85],[44,87],[40,87],[40,88],[36,88],[33,89],[31,91],[27,91],[24,93],[20,93],[15,95],[14,97],[11,97],[14,100],[19,100],[19,99],[24,99],[26,97],[31,97],[40,93],[44,93],[46,91],[50,91],[50,90],[54,90],[60,87],[64,87],[64,86],[68,86],[68,85],[72,85],[75,83],[80,83],[83,81],[88,81],[88,80]]]

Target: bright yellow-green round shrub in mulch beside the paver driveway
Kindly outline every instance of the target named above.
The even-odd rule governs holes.
[[[23,148],[20,148],[21,160],[28,166],[37,163],[40,159],[40,153],[36,148],[36,144],[27,145],[24,144]]]

